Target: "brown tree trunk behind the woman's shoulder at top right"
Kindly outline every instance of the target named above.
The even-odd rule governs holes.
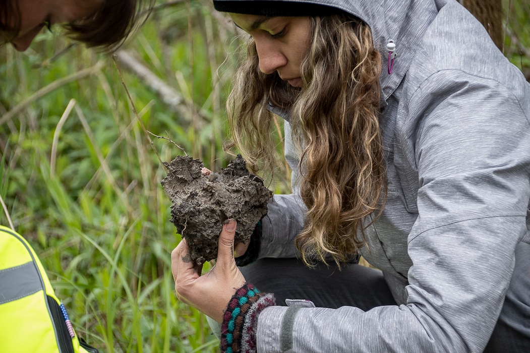
[[[495,45],[504,50],[501,0],[461,0],[460,3],[482,23]]]

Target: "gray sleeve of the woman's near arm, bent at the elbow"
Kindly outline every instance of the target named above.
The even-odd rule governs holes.
[[[406,305],[301,308],[287,319],[286,307],[268,307],[258,317],[258,351],[280,352],[285,342],[304,353],[484,349],[515,248],[529,241],[530,90],[514,96],[492,80],[440,75],[414,96],[396,136],[419,182]],[[443,92],[439,82],[458,90]]]

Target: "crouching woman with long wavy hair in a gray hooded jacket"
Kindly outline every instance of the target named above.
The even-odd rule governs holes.
[[[232,220],[210,272],[172,253],[222,351],[527,351],[530,85],[482,25],[453,0],[214,6],[250,34],[234,144],[270,170],[278,114],[293,169],[257,246]]]

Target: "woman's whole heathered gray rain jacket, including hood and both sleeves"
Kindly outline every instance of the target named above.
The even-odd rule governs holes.
[[[381,50],[388,199],[362,255],[400,305],[302,308],[295,316],[267,307],[258,351],[482,351],[516,245],[530,242],[530,85],[453,0],[313,2],[364,20]],[[389,75],[390,40],[397,57]],[[288,122],[286,146],[296,180]],[[275,196],[260,257],[296,255],[304,210],[296,186]]]

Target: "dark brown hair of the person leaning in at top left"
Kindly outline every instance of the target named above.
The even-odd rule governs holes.
[[[67,35],[74,40],[85,43],[89,47],[116,49],[126,40],[136,23],[143,17],[147,18],[148,10],[154,0],[104,0],[92,15],[73,23],[64,24]],[[20,30],[20,11],[17,0],[3,0],[0,5],[0,31],[16,37]],[[8,23],[14,27],[8,28]]]

